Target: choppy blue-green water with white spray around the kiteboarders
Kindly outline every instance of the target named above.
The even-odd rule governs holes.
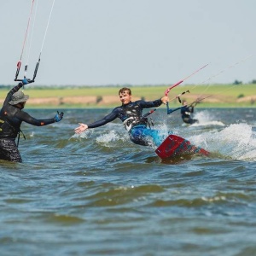
[[[22,124],[23,163],[0,163],[1,255],[256,255],[255,109],[195,110],[200,125],[159,108],[154,127],[210,157],[160,160],[119,120],[74,135],[109,109]]]

